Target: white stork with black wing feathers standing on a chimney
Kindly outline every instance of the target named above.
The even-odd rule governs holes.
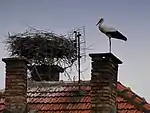
[[[127,38],[123,36],[118,30],[103,25],[103,22],[104,19],[101,18],[96,24],[96,26],[98,25],[99,30],[109,37],[109,51],[111,53],[111,38],[120,39],[124,41],[127,41]]]

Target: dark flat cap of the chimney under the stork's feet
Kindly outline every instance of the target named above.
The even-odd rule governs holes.
[[[122,64],[123,62],[119,60],[115,55],[112,53],[92,53],[89,54],[90,57],[95,58],[95,57],[101,57],[101,58],[111,58],[115,63],[117,64]]]

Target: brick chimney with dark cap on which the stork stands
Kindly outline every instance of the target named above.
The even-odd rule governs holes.
[[[122,64],[112,53],[90,54],[91,113],[116,113],[116,85],[118,64]]]

